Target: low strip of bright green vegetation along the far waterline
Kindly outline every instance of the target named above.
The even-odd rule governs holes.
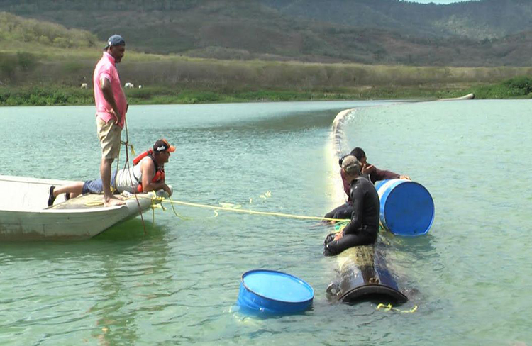
[[[528,99],[532,79],[516,77],[488,86],[450,89],[400,86],[318,90],[201,90],[150,86],[126,89],[129,104],[213,104],[254,101],[333,101],[360,99],[446,99],[474,93],[477,99]],[[92,89],[65,86],[0,87],[0,106],[92,105]]]

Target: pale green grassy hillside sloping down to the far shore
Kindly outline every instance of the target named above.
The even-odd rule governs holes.
[[[0,105],[92,104],[92,72],[104,42],[84,30],[9,13],[0,13],[0,29]],[[530,36],[509,36],[492,49],[504,52]],[[126,90],[131,104],[447,98],[475,90],[489,97],[527,97],[532,84],[519,79],[495,89],[489,86],[531,74],[528,67],[217,60],[146,54],[127,47],[118,67],[121,79],[143,85]],[[80,88],[84,83],[87,89]]]

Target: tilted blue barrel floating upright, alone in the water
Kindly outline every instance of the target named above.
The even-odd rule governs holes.
[[[257,269],[242,274],[238,306],[258,313],[299,313],[312,306],[314,289],[293,275]]]

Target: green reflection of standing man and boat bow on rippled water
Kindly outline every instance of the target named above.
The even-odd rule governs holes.
[[[95,238],[99,244],[129,243],[118,249],[116,256],[106,255],[101,260],[98,298],[87,311],[96,318],[94,336],[100,345],[134,345],[146,316],[169,305],[172,266],[164,232],[164,228],[147,223],[144,234],[142,222],[134,219]]]

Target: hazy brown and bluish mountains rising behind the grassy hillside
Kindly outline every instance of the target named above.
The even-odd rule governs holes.
[[[532,1],[2,0],[0,11],[220,59],[532,65]]]

